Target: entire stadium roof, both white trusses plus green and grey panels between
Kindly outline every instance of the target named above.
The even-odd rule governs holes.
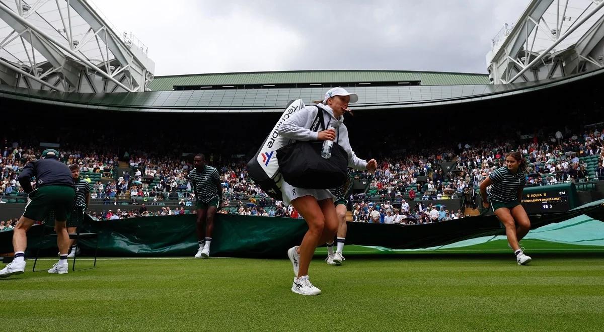
[[[493,39],[489,75],[331,70],[155,77],[142,43],[86,0],[0,0],[0,104],[5,100],[133,112],[281,112],[333,86],[355,110],[467,103],[604,77],[604,0],[532,0]],[[587,88],[593,81],[585,80]],[[494,84],[492,84],[494,83]]]

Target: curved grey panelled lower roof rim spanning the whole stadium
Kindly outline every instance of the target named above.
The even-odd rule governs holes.
[[[568,85],[585,78],[604,77],[604,68],[573,76],[503,85],[356,86],[347,88],[359,95],[355,110],[401,109],[442,106],[525,94]],[[243,113],[283,112],[291,100],[305,103],[322,98],[325,88],[210,89],[196,91],[119,92],[83,94],[39,91],[0,85],[1,98],[84,109],[130,112]]]

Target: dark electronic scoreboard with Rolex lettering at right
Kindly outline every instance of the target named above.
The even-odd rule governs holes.
[[[577,206],[574,184],[528,187],[522,191],[522,206],[528,213],[566,212]]]

